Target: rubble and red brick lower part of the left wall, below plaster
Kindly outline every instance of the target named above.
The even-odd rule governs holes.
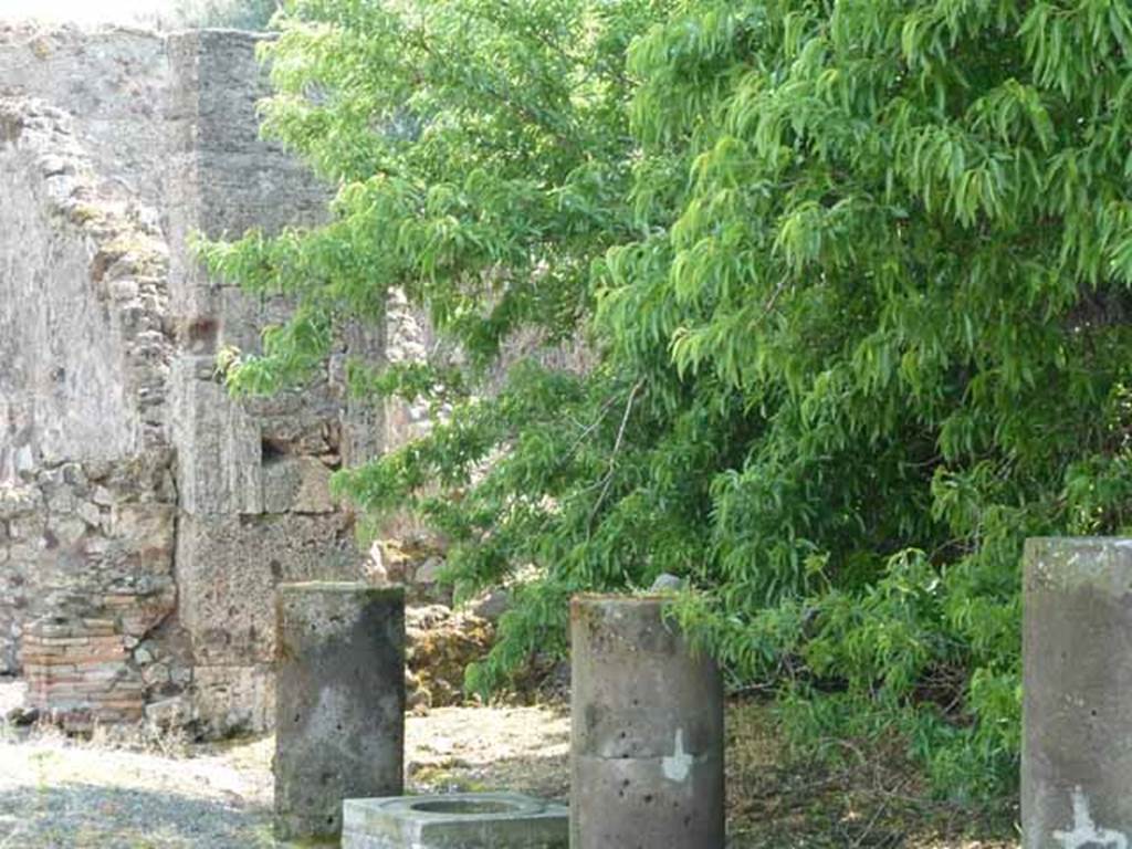
[[[174,499],[161,455],[0,484],[0,627],[12,637],[0,660],[23,669],[45,715],[72,728],[117,721],[134,715],[131,700],[189,685],[171,627]]]

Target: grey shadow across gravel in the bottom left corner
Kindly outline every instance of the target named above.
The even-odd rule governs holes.
[[[0,790],[0,849],[259,849],[271,814],[172,792],[51,783]]]

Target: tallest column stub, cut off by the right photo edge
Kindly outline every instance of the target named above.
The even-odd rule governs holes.
[[[1132,539],[1031,539],[1024,849],[1132,847]]]

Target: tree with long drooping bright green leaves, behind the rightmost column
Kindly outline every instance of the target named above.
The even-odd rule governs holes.
[[[606,311],[760,422],[685,619],[804,672],[788,721],[895,726],[959,792],[1014,774],[1022,539],[1129,523],[1130,27],[697,2],[634,48],[637,135],[692,188]]]

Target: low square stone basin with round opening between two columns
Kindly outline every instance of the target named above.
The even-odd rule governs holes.
[[[346,799],[342,849],[567,849],[566,806],[521,794]]]

